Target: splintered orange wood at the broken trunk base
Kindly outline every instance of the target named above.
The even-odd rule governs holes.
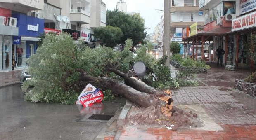
[[[160,100],[165,101],[166,105],[161,107],[161,111],[166,117],[171,117],[172,115],[172,108],[173,108],[173,99],[171,98],[171,90],[166,90],[164,93],[168,94],[168,96],[159,97]]]

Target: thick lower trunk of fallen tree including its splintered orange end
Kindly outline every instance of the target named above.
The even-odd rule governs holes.
[[[172,102],[171,92],[167,91],[166,96],[157,97],[154,94],[148,94],[145,92],[138,91],[133,89],[126,84],[123,84],[120,81],[115,79],[109,79],[106,77],[92,77],[86,75],[86,72],[83,70],[79,70],[81,72],[80,80],[89,82],[90,84],[94,84],[103,88],[111,89],[113,93],[121,95],[133,103],[140,105],[142,107],[161,107],[162,112],[164,112],[167,116],[171,117],[171,109]],[[167,96],[168,95],[168,96]]]

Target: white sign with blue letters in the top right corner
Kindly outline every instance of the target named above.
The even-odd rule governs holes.
[[[256,9],[256,0],[240,0],[240,13],[244,14]]]

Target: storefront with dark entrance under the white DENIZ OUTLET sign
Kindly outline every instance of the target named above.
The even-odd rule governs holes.
[[[251,34],[256,35],[256,11],[240,16],[232,20],[232,30],[225,35],[228,36],[228,54],[227,59],[232,65],[251,65],[249,53],[249,40]]]

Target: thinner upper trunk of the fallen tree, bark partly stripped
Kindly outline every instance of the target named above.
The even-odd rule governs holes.
[[[126,85],[131,86],[138,91],[145,92],[148,94],[153,94],[154,96],[157,96],[157,97],[168,96],[166,93],[157,91],[153,87],[148,86],[146,83],[142,82],[140,79],[136,77],[130,77],[128,74],[125,74],[114,68],[107,68],[107,70],[110,70],[111,72],[114,72],[116,75],[121,76],[123,79],[125,79]]]

